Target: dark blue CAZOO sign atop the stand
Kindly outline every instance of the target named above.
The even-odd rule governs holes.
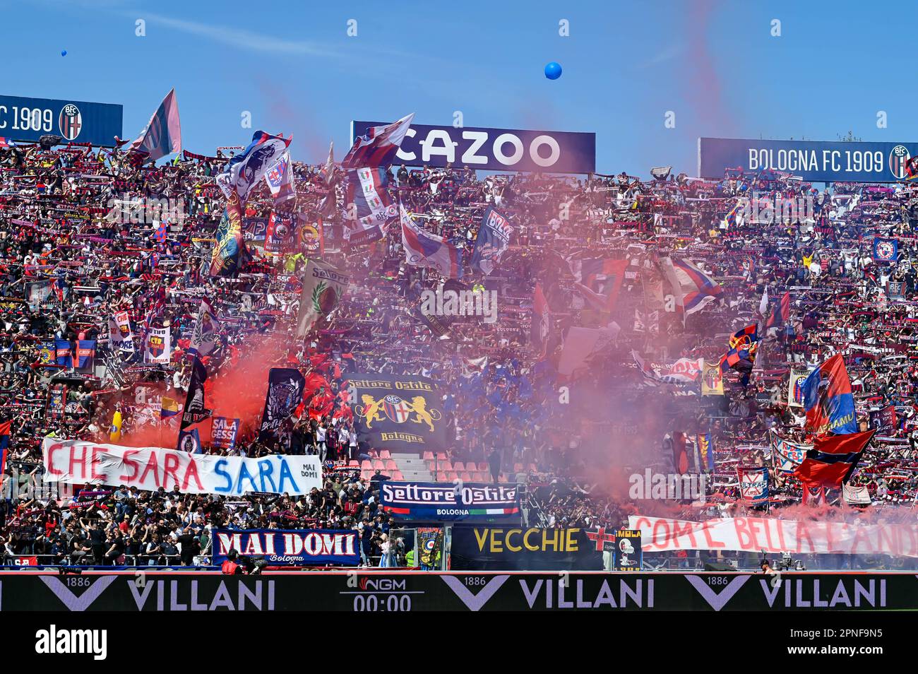
[[[385,122],[354,121],[351,140]],[[409,166],[468,166],[483,171],[596,171],[596,134],[412,124],[395,163]]]

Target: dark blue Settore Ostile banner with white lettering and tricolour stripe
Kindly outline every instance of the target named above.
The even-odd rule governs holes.
[[[520,522],[516,485],[393,482],[380,488],[383,510],[397,520],[417,522]]]

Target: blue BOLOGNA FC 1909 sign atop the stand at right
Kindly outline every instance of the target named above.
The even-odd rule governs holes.
[[[740,168],[799,175],[808,182],[894,183],[908,177],[906,165],[915,153],[918,142],[700,138],[698,174],[722,179],[726,169]]]

